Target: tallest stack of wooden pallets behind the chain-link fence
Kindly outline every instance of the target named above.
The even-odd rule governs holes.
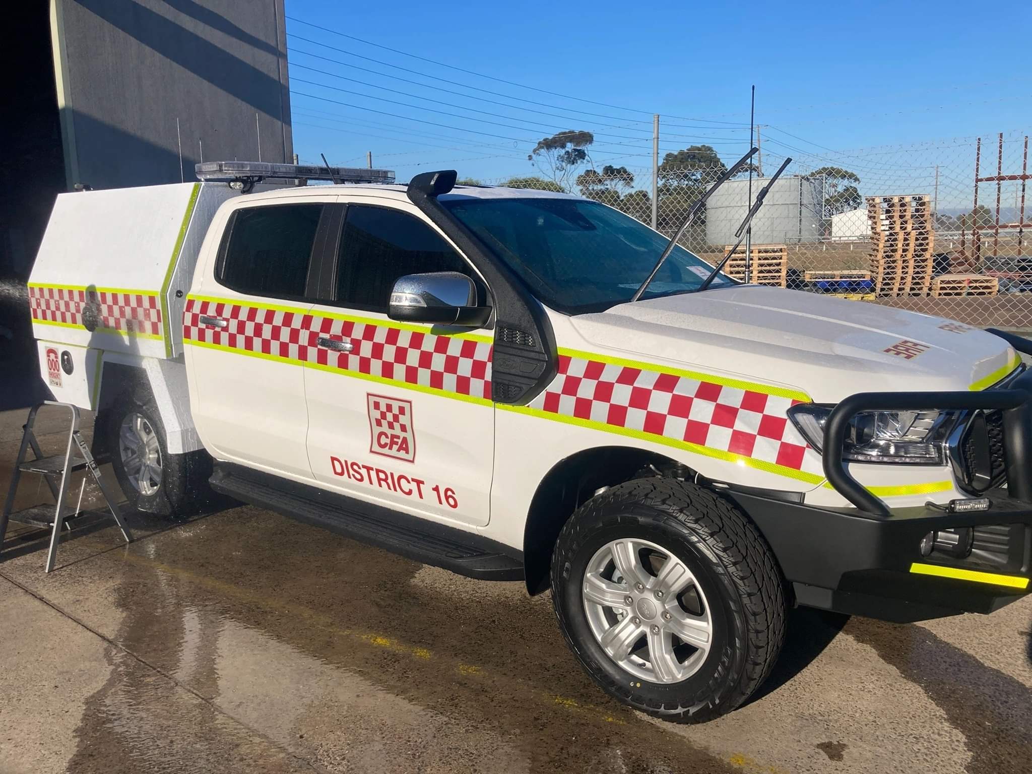
[[[867,219],[874,292],[879,296],[928,295],[935,247],[929,197],[868,196]]]

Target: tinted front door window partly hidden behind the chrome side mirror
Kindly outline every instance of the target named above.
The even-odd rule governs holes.
[[[337,258],[338,303],[385,313],[394,281],[426,271],[474,276],[461,256],[422,221],[396,209],[348,205]]]

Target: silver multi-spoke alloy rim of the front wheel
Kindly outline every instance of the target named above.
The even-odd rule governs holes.
[[[706,594],[687,566],[655,543],[623,538],[600,548],[581,599],[600,647],[635,677],[681,682],[706,660],[713,642]]]

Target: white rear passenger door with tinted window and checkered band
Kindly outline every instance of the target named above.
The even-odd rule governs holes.
[[[198,432],[220,459],[312,478],[301,340],[320,222],[333,206],[307,197],[238,207],[199,269],[184,343]]]

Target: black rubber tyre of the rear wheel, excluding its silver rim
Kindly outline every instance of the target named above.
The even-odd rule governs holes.
[[[130,414],[139,414],[154,429],[161,452],[162,477],[157,491],[144,494],[130,481],[119,451],[119,429]],[[161,413],[150,389],[140,385],[124,393],[101,415],[107,433],[108,457],[115,478],[128,501],[129,508],[152,513],[173,521],[195,515],[216,496],[207,483],[212,458],[203,449],[185,454],[170,454]],[[98,417],[100,418],[100,417]]]

